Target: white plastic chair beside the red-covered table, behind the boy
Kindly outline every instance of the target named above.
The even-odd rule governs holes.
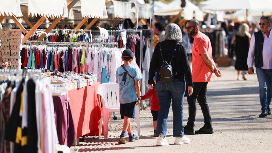
[[[120,112],[119,103],[119,84],[117,83],[102,83],[98,86],[97,95],[101,96],[102,100],[102,117],[99,124],[98,136],[102,135],[102,124],[104,123],[104,139],[108,138],[108,117],[111,112]],[[139,105],[135,108],[135,119],[137,123],[138,136],[140,137],[140,117]]]

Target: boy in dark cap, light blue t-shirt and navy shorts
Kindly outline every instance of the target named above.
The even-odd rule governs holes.
[[[124,65],[118,67],[116,71],[116,83],[119,84],[120,114],[124,119],[123,130],[119,143],[125,143],[125,134],[128,131],[129,142],[138,140],[139,137],[131,132],[130,118],[135,118],[135,105],[140,103],[140,82],[142,79],[140,72],[131,65],[134,53],[130,49],[125,49],[122,53]],[[127,73],[128,72],[128,73]]]

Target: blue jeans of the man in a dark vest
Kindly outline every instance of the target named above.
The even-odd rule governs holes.
[[[261,110],[268,110],[272,100],[272,70],[256,68],[260,89]]]

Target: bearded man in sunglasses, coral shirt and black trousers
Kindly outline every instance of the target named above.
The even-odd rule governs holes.
[[[216,68],[215,62],[212,59],[212,48],[209,37],[199,32],[198,20],[189,20],[185,29],[188,35],[192,36],[194,40],[192,53],[193,94],[187,97],[189,118],[187,125],[184,126],[184,134],[213,134],[214,130],[211,126],[210,109],[206,98],[207,84],[212,80],[212,73],[220,77],[221,72]],[[204,126],[198,131],[194,131],[197,101],[204,116]]]

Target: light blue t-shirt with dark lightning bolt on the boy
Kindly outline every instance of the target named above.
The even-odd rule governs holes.
[[[142,79],[140,72],[132,65],[125,66],[134,80]],[[128,104],[138,100],[135,89],[135,81],[127,74],[121,66],[116,71],[116,83],[119,84],[120,104]]]

